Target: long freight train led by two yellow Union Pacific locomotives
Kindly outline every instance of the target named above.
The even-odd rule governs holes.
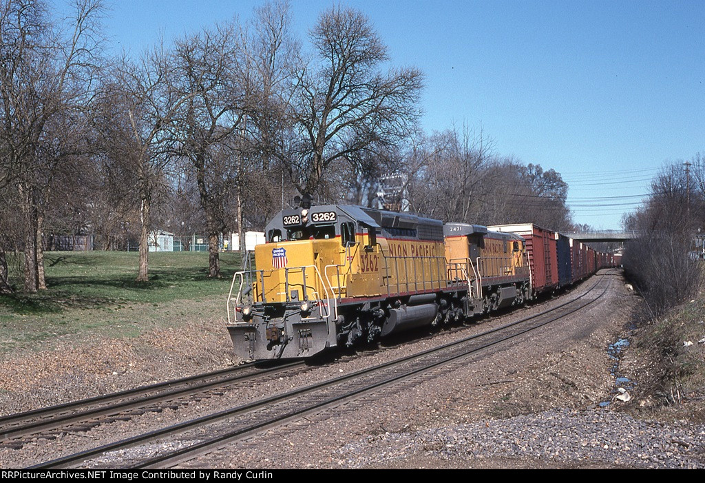
[[[446,223],[306,202],[284,209],[233,276],[227,329],[243,360],[311,357],[522,305],[615,264],[533,224]]]

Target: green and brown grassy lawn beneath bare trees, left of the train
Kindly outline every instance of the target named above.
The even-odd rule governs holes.
[[[137,283],[136,252],[47,252],[47,290],[21,292],[22,260],[8,257],[12,295],[0,295],[0,351],[44,346],[57,336],[139,336],[184,323],[212,300],[223,312],[240,255],[221,253],[222,279],[208,279],[207,252],[149,254],[149,282]],[[195,307],[199,307],[198,309]]]

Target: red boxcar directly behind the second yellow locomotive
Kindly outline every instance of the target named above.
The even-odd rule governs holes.
[[[489,230],[516,233],[526,240],[532,289],[541,293],[558,286],[556,234],[534,224],[488,226]]]

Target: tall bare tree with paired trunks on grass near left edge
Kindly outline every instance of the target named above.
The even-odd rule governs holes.
[[[99,0],[77,0],[70,27],[61,30],[44,1],[0,2],[0,142],[7,152],[1,162],[23,214],[27,292],[46,288],[44,215],[54,171],[66,154],[51,144],[63,134],[59,126],[74,127],[67,120],[92,92],[101,10]]]

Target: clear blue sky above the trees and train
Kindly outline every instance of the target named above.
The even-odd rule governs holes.
[[[115,1],[106,34],[140,51],[261,4]],[[426,75],[427,131],[482,126],[496,154],[562,173],[578,223],[619,228],[664,163],[705,152],[705,0],[343,4]],[[332,5],[291,0],[300,37]]]

